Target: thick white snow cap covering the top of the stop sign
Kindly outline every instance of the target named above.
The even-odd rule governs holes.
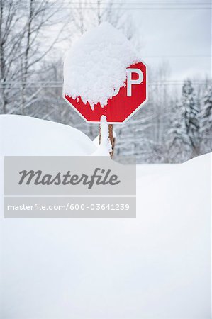
[[[125,36],[110,23],[84,33],[64,62],[64,94],[104,107],[126,80],[126,68],[140,62]]]

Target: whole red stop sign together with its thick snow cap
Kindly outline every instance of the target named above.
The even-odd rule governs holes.
[[[82,35],[64,62],[63,97],[89,123],[124,123],[147,101],[147,69],[109,23]]]

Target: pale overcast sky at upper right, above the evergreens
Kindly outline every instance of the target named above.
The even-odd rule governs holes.
[[[169,61],[172,79],[204,78],[205,74],[211,77],[211,10],[205,9],[208,7],[205,4],[210,1],[198,1],[201,6],[194,6],[194,2],[185,0],[180,6],[189,9],[172,5],[172,9],[164,10],[162,8],[168,5],[160,4],[157,7],[161,9],[153,9],[156,6],[151,6],[150,10],[137,7],[130,13],[140,25],[143,60],[150,66],[157,66],[162,60]],[[194,9],[196,7],[198,9]]]

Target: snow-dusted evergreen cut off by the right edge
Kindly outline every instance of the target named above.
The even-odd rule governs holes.
[[[212,137],[212,87],[206,89],[199,113],[201,152],[211,152]]]

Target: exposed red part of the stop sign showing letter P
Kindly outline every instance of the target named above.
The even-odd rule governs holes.
[[[87,123],[99,123],[103,115],[108,123],[125,123],[147,102],[147,68],[143,62],[128,67],[125,86],[114,92],[103,108],[97,103],[92,110],[80,97],[72,99],[66,94],[63,97]]]

